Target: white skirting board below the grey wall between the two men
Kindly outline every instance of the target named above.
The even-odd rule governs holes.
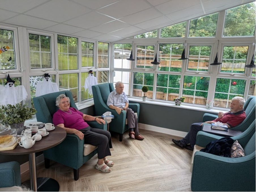
[[[158,133],[165,133],[168,135],[175,135],[175,136],[180,136],[180,137],[185,137],[187,135],[187,132],[184,132],[184,131],[177,131],[177,130],[167,129],[167,128],[163,128],[163,127],[156,127],[154,125],[147,125],[147,124],[143,124],[143,123],[138,123],[138,127],[139,127],[139,129],[145,129],[145,130],[149,130],[149,131],[155,131]]]

